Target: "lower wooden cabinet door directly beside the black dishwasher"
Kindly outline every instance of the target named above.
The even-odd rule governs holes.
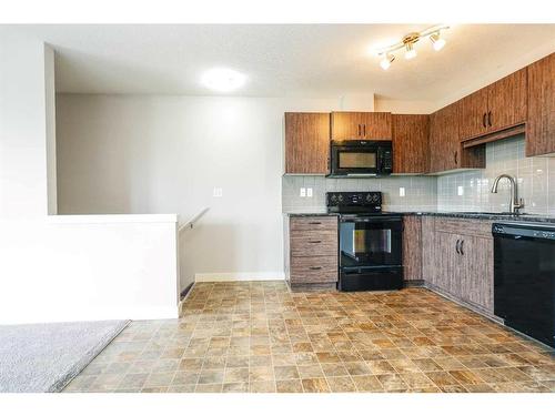
[[[462,239],[465,275],[461,297],[493,313],[493,240]]]

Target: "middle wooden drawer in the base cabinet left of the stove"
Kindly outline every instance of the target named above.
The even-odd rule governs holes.
[[[337,231],[292,231],[290,235],[292,256],[337,255]]]

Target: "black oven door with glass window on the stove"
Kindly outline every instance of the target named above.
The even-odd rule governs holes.
[[[403,253],[401,216],[342,216],[340,219],[340,267],[401,266]]]

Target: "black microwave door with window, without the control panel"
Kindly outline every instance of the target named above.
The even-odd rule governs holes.
[[[376,145],[333,145],[330,176],[376,176],[380,152]]]

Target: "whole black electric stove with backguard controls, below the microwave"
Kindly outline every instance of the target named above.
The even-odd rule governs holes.
[[[329,213],[340,215],[339,290],[403,287],[403,215],[382,211],[381,192],[327,192]]]

